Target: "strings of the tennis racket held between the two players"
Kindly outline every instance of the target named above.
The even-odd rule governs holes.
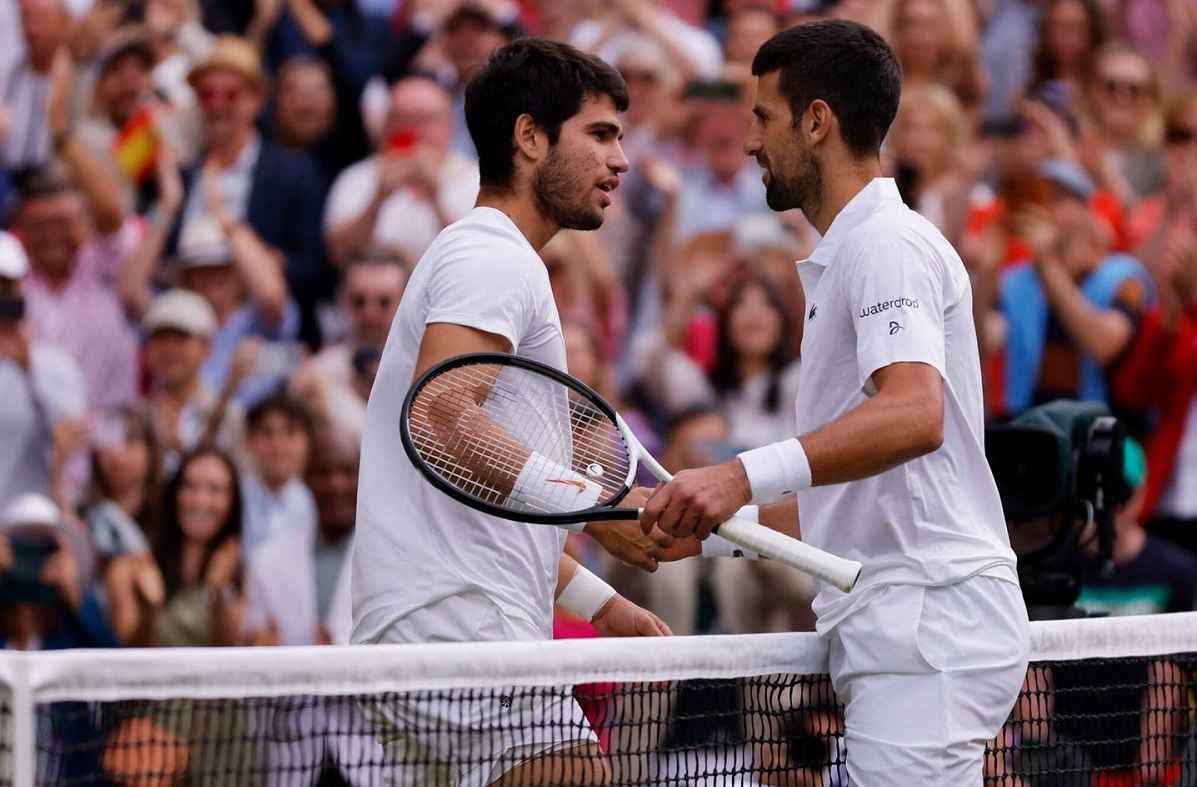
[[[417,392],[408,434],[443,480],[521,513],[575,510],[576,492],[543,478],[525,478],[521,494],[511,495],[525,467],[537,467],[528,461],[534,452],[548,460],[542,474],[555,464],[598,484],[598,504],[624,491],[631,468],[624,436],[602,410],[569,386],[521,367],[478,363],[440,373]]]

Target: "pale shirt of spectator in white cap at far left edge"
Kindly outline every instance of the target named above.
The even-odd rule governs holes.
[[[69,355],[35,344],[26,373],[0,357],[0,509],[19,496],[50,492],[51,432],[87,408],[83,373]]]

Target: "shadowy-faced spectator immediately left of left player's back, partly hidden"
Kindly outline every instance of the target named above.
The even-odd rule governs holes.
[[[350,550],[358,504],[360,432],[317,432],[306,483],[316,502],[316,615],[322,641],[348,644],[351,599]]]

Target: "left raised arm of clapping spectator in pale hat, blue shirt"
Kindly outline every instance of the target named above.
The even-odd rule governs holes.
[[[158,201],[146,217],[141,240],[116,274],[117,295],[126,315],[140,322],[153,301],[153,278],[166,250],[171,228],[183,207],[183,178],[175,157],[165,145],[158,147],[156,162]]]

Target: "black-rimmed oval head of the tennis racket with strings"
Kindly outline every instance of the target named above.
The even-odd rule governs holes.
[[[527,448],[548,455],[602,486],[596,504],[566,510],[514,502],[496,485],[479,479],[456,456],[474,450],[496,466],[503,452],[484,444],[478,432],[426,428],[430,411],[445,398],[454,406],[462,392],[487,387],[478,406]],[[567,417],[566,417],[567,413]],[[421,424],[425,424],[421,426]],[[533,525],[567,525],[602,519],[636,519],[637,509],[618,508],[636,476],[636,443],[615,410],[581,380],[547,364],[502,352],[454,356],[429,368],[417,380],[400,412],[400,440],[408,459],[424,478],[464,506],[486,514]],[[567,454],[567,455],[566,455]],[[518,473],[518,467],[505,468]]]

